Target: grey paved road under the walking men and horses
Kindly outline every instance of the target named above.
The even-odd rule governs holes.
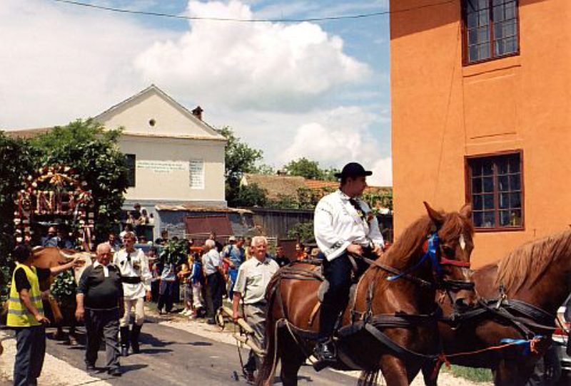
[[[113,385],[246,385],[246,380],[241,377],[236,346],[153,322],[145,323],[141,340],[140,354],[121,358],[122,377],[110,377],[103,369],[94,376]],[[84,346],[81,344],[69,346],[48,340],[47,351],[74,367],[84,369]],[[243,355],[246,357],[246,351]],[[104,359],[105,353],[100,351],[97,365],[103,366]],[[279,379],[276,378],[276,382]],[[299,383],[355,385],[356,379],[330,370],[318,373],[304,366]]]

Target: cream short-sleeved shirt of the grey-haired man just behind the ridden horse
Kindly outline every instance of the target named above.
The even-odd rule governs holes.
[[[259,261],[256,256],[240,265],[234,292],[239,292],[244,304],[255,304],[265,301],[266,288],[274,273],[280,269],[278,263],[266,257]]]

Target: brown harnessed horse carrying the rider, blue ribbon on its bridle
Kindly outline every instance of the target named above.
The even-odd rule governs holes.
[[[426,203],[425,206],[428,216],[405,229],[398,241],[361,276],[355,289],[355,301],[343,315],[341,330],[348,333],[337,340],[340,360],[334,367],[365,370],[363,385],[375,382],[379,370],[388,385],[408,385],[413,380],[428,358],[425,355],[435,354],[438,345],[433,314],[437,308],[435,284],[442,283],[442,278],[453,279],[456,283],[469,278],[469,270],[465,267],[469,265],[473,249],[470,206],[446,214],[436,212]],[[433,237],[436,231],[440,240],[436,259],[440,264],[446,264],[438,264],[442,269],[438,277],[429,261],[419,265],[425,256],[423,247],[427,238]],[[454,264],[458,262],[462,263]],[[418,267],[408,272],[415,265]],[[294,264],[289,269],[294,273],[305,272],[306,276],[308,272],[313,272],[309,276],[318,276],[315,266],[310,264]],[[395,270],[407,274],[398,280],[387,280]],[[297,385],[298,370],[315,345],[320,281],[288,278],[285,271],[284,268],[278,271],[268,286],[267,355],[256,379],[257,385],[273,382],[278,362],[281,362],[283,384]],[[463,292],[468,293],[466,301],[473,300],[470,298],[472,291],[456,291],[452,297],[463,298],[466,295]],[[385,323],[385,320],[389,322]],[[371,329],[372,325],[375,327]],[[375,337],[379,333],[390,342],[380,343]],[[405,348],[404,355],[403,352],[395,353],[390,348],[391,343]]]

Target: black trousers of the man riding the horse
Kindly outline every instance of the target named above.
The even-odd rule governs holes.
[[[358,276],[368,267],[365,262],[357,260]],[[323,296],[319,313],[318,341],[324,342],[333,336],[335,322],[345,310],[349,301],[351,288],[351,271],[353,265],[346,254],[335,259],[323,261],[323,276],[329,281],[329,289]]]

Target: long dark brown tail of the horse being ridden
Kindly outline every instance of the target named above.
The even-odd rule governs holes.
[[[278,276],[278,275],[276,275]],[[273,384],[273,375],[278,365],[278,322],[273,315],[273,305],[276,302],[276,293],[280,291],[279,279],[276,276],[272,278],[266,288],[266,299],[268,309],[266,313],[266,355],[263,358],[258,376],[256,377],[256,386],[269,386]]]

